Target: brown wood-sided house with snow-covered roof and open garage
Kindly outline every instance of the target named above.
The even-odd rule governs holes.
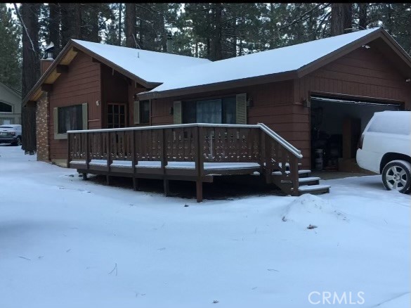
[[[262,122],[314,167],[352,169],[381,110],[410,110],[411,58],[381,28],[209,60],[72,40],[23,100],[39,160],[64,162],[70,129]]]

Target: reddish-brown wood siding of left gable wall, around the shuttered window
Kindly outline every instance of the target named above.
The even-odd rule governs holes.
[[[53,108],[89,103],[89,129],[101,128],[101,111],[96,101],[100,97],[100,64],[94,63],[90,56],[79,52],[69,65],[69,71],[63,73],[53,84],[49,92],[50,141],[51,159],[67,158],[67,140],[54,139]]]

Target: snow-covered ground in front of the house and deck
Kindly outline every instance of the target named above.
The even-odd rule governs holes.
[[[0,307],[410,307],[410,195],[323,183],[196,203],[0,146]]]

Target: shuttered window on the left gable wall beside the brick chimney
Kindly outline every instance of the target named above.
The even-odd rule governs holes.
[[[67,131],[87,129],[87,103],[54,108],[54,139],[67,139]]]

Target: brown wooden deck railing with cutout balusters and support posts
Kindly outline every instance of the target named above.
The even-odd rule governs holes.
[[[176,124],[122,129],[67,131],[68,165],[105,161],[107,181],[113,161],[129,162],[133,179],[136,166],[146,161],[161,162],[160,178],[168,189],[169,162],[194,162],[197,200],[202,195],[205,162],[254,162],[261,166],[267,183],[280,171],[279,186],[286,193],[298,191],[298,163],[302,155],[291,143],[264,124]],[[228,164],[229,165],[229,164]],[[92,172],[90,172],[92,173]],[[175,178],[175,177],[174,177]],[[166,182],[167,181],[167,182]],[[284,184],[284,185],[281,185]],[[166,187],[167,186],[167,187]]]

